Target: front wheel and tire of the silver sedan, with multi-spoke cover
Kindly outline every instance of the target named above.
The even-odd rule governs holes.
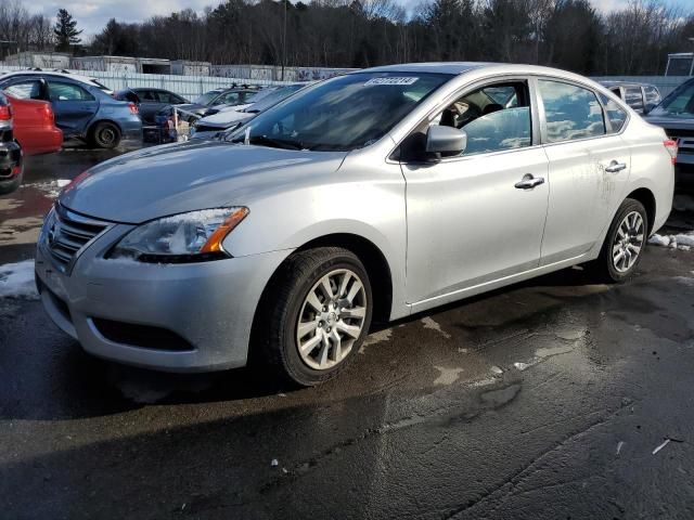
[[[354,359],[371,325],[371,284],[359,258],[339,247],[300,251],[290,257],[271,284],[254,324],[266,364],[304,387],[335,377]]]

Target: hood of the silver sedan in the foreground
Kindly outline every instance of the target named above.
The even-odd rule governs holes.
[[[264,192],[336,171],[346,155],[209,141],[156,146],[87,170],[63,190],[59,203],[89,217],[139,224],[250,204]]]

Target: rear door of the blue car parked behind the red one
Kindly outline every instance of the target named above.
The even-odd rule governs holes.
[[[60,79],[48,79],[47,83],[55,125],[66,136],[83,134],[99,110],[97,98],[77,83]]]

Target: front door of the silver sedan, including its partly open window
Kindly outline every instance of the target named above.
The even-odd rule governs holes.
[[[427,123],[464,130],[463,154],[401,160],[414,311],[539,265],[550,186],[532,112],[526,81],[475,89]]]

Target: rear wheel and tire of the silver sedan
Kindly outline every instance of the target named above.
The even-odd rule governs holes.
[[[630,219],[628,222],[627,217]],[[630,222],[634,225],[631,226]],[[626,236],[625,226],[630,227]],[[645,208],[639,200],[625,199],[609,224],[600,257],[592,264],[593,275],[600,282],[607,283],[624,282],[632,276],[641,262],[647,238],[648,214]]]

